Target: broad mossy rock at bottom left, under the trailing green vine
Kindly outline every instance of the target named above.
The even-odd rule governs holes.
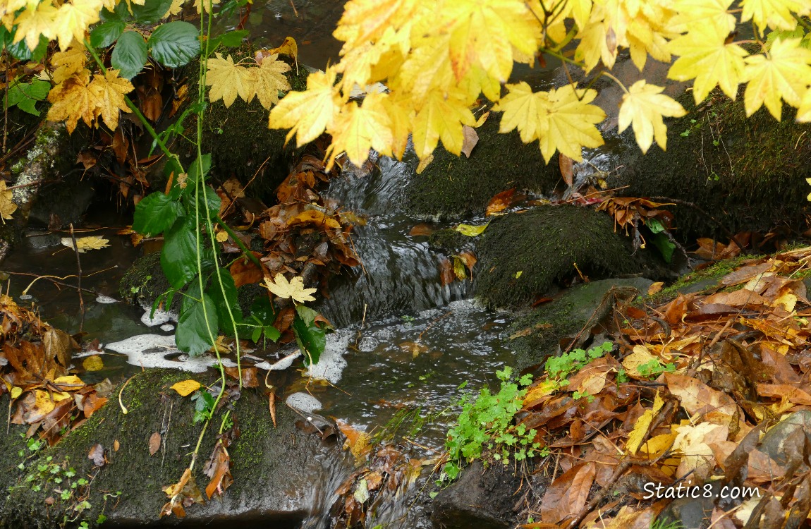
[[[188,378],[188,373],[170,370],[139,373],[122,391],[122,403],[129,408],[126,415],[117,402],[119,387],[110,401],[84,425],[53,448],[42,450],[28,462],[27,468],[36,468],[51,457],[53,462],[70,461],[78,476],[95,475],[88,498],[91,508],[82,515],[90,527],[96,526],[102,509],[115,527],[152,527],[157,524],[161,506],[167,501],[162,488],[180,479],[202,428],[200,423],[192,424],[194,403],[191,399],[182,398],[169,389],[175,382]],[[195,378],[205,384],[217,381],[212,373]],[[149,437],[153,432],[165,430],[169,412],[171,422],[163,432],[165,453],[159,451],[150,456]],[[337,448],[325,447],[318,437],[296,428],[297,417],[287,406],[277,406],[278,426],[274,427],[268,413],[268,397],[257,389],[242,389],[231,416],[241,432],[229,448],[234,484],[220,500],[187,508],[187,522],[196,527],[227,517],[225,519],[238,524],[240,520],[244,523],[246,518],[256,517],[272,527],[299,527],[311,507],[312,483],[321,479],[319,472],[323,471],[315,456],[324,454],[325,449]],[[195,465],[195,481],[201,491],[208,484],[204,466],[212,453],[218,425],[219,419],[209,427]],[[18,438],[19,434],[12,432],[2,444]],[[115,441],[118,441],[118,451],[113,449]],[[88,459],[90,449],[97,443],[105,448],[108,460],[101,468],[93,468]],[[6,454],[10,451],[11,454]],[[19,480],[23,485],[11,488],[0,527],[59,527],[62,513],[70,505],[63,505],[61,501],[46,505],[46,497],[58,498],[52,490],[54,484],[44,484],[39,492],[32,491],[30,486],[24,485],[27,471],[16,469],[20,458],[14,448],[4,448],[0,454],[4,456],[2,465],[12,469],[10,481]],[[341,460],[341,455],[337,457]],[[105,492],[118,491],[121,491],[120,497],[108,499],[105,505]],[[178,523],[173,518],[164,522]]]

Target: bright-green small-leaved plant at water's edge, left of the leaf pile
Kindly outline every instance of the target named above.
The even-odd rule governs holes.
[[[491,394],[489,388],[483,388],[474,400],[471,401],[470,394],[466,394],[457,402],[461,413],[457,424],[448,430],[445,441],[448,462],[439,483],[445,478],[455,480],[465,462],[474,459],[489,457],[507,465],[510,455],[516,461],[534,454],[543,455],[539,443],[534,441],[537,432],[527,430],[524,424],[513,424],[526,395],[526,389],[519,389],[519,385],[529,385],[532,376],[522,376],[516,383],[510,381],[512,374],[509,367],[496,372],[501,381],[498,393]]]

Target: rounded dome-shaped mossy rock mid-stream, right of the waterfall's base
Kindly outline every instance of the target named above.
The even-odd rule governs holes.
[[[637,273],[629,239],[611,218],[590,208],[540,206],[491,221],[478,244],[476,294],[496,307],[521,307],[555,282]],[[577,269],[575,269],[575,263]]]

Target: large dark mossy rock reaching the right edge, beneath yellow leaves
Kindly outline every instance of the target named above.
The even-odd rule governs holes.
[[[667,196],[696,204],[732,233],[766,233],[775,226],[803,231],[809,213],[805,178],[811,177],[811,124],[794,122],[791,109],[775,121],[766,108],[747,118],[744,97],[714,93],[700,105],[692,92],[679,99],[688,114],[667,124],[667,153],[654,145],[609,179],[625,196]],[[636,150],[636,149],[629,149]],[[667,206],[676,235],[692,241],[716,234],[696,209]]]

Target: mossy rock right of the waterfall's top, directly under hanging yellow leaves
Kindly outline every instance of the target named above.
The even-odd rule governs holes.
[[[418,217],[460,218],[482,214],[490,199],[515,187],[548,192],[560,182],[557,154],[543,162],[538,143],[524,144],[516,131],[499,134],[501,114],[491,113],[478,129],[470,158],[443,147],[405,188],[405,203]]]

